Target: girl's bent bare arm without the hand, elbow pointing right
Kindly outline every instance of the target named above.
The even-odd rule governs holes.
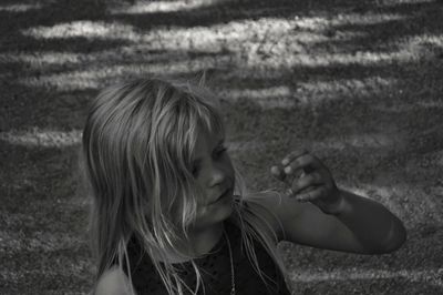
[[[340,193],[342,207],[334,214],[288,196],[280,204],[267,200],[282,223],[286,238],[281,233],[281,240],[360,254],[389,253],[404,243],[402,222],[383,205],[347,191]]]

